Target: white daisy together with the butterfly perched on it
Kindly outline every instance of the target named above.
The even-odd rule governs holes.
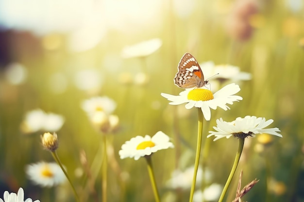
[[[208,84],[208,80],[204,80],[199,63],[190,53],[185,53],[179,62],[174,84],[185,89],[185,91],[179,93],[179,95],[167,93],[161,93],[161,95],[171,101],[170,105],[186,103],[186,109],[193,107],[201,109],[206,121],[211,118],[210,108],[217,109],[217,107],[220,107],[227,110],[230,109],[227,104],[232,105],[233,102],[243,99],[241,96],[234,95],[240,91],[239,86],[235,83],[224,86],[216,93],[203,88]]]

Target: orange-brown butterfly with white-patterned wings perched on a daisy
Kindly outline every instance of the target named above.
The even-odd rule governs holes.
[[[178,63],[178,72],[174,77],[174,84],[180,88],[201,88],[208,83],[199,63],[190,53],[185,53]]]

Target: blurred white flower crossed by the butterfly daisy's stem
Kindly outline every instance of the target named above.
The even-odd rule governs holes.
[[[190,189],[193,180],[194,166],[187,168],[185,171],[174,170],[171,174],[171,179],[167,182],[167,186],[171,188],[183,188]],[[205,181],[210,181],[211,172],[209,170],[205,170],[204,177]],[[203,170],[199,167],[196,177],[196,185],[199,186],[202,182],[203,178]]]

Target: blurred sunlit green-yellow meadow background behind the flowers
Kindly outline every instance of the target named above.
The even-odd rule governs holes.
[[[283,135],[245,140],[227,201],[235,197],[242,169],[242,186],[260,180],[244,201],[304,202],[303,0],[0,0],[0,196],[23,187],[26,197],[41,202],[75,201],[68,183],[40,187],[25,174],[28,164],[53,161],[40,135],[56,131],[58,155],[86,201],[101,201],[98,159],[106,135],[111,143],[108,201],[153,202],[144,160],[120,160],[118,151],[132,137],[162,130],[175,145],[152,159],[162,201],[187,201],[189,187],[174,187],[170,179],[174,170],[194,164],[197,111],[169,106],[160,96],[183,91],[173,78],[185,52],[199,63],[229,64],[251,75],[231,80],[220,79],[218,72],[210,80],[214,92],[236,82],[243,101],[228,111],[211,110],[204,137],[216,119],[230,122],[246,115],[273,119],[269,127]],[[104,134],[90,124],[81,103],[95,96],[116,102],[115,131]],[[59,114],[64,123],[52,131],[24,129],[26,114],[34,109]],[[225,184],[238,140],[211,138],[203,145],[210,172],[203,173],[198,191]],[[81,151],[96,170],[92,186]]]

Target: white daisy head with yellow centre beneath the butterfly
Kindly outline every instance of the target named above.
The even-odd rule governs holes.
[[[201,108],[204,118],[209,121],[211,118],[211,109],[230,109],[227,104],[232,105],[233,102],[242,100],[243,98],[238,95],[234,95],[239,92],[240,88],[235,83],[229,84],[221,88],[218,92],[212,94],[207,89],[186,89],[179,95],[171,95],[167,93],[161,93],[161,95],[171,101],[170,105],[186,104],[186,109],[193,107]]]

